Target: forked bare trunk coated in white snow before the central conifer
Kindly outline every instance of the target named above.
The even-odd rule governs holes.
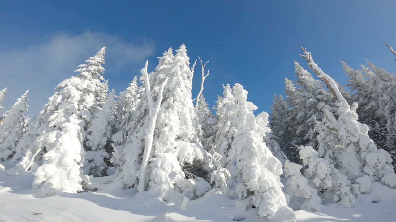
[[[147,75],[147,62],[145,66],[145,73]],[[142,70],[143,74],[143,70]],[[157,116],[158,116],[158,111],[160,110],[160,105],[162,102],[162,94],[164,93],[164,87],[165,84],[168,83],[168,77],[165,78],[164,82],[160,86],[160,91],[158,92],[158,98],[157,98],[157,103],[152,110],[152,112],[149,113],[150,120],[148,122],[148,130],[145,135],[145,151],[143,152],[143,160],[142,160],[142,166],[140,167],[140,177],[139,177],[139,184],[137,185],[137,191],[138,192],[145,192],[147,184],[146,184],[146,176],[147,176],[147,166],[148,166],[148,160],[150,160],[152,156],[152,140],[154,137],[154,130],[155,130],[155,123],[157,121]],[[148,81],[145,81],[145,87],[146,87],[146,96],[147,98],[152,99],[152,95],[150,91],[147,91],[147,88],[150,89],[150,86],[147,86],[149,83]],[[152,105],[152,100],[151,100],[151,105]]]

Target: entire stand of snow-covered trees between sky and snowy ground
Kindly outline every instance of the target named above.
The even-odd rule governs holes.
[[[396,188],[396,76],[341,62],[349,83],[341,86],[302,50],[296,59],[314,75],[295,62],[272,114],[255,116],[238,83],[208,107],[201,59],[201,90],[191,94],[197,60],[190,64],[185,45],[109,92],[103,47],[33,120],[24,115],[28,91],[6,111],[0,91],[0,161],[9,175],[34,172],[32,187],[47,196],[121,184],[170,201],[218,187],[269,220],[282,212],[295,221],[292,209],[320,211],[323,199],[352,207],[374,181]]]

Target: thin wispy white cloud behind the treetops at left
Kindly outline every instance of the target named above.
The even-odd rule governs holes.
[[[131,43],[118,36],[89,31],[74,36],[56,34],[46,43],[0,51],[0,90],[8,87],[4,108],[10,108],[29,89],[29,114],[37,115],[53,88],[76,75],[73,71],[77,66],[103,46],[107,46],[105,78],[110,81],[114,75],[143,66],[155,52],[152,41]]]

